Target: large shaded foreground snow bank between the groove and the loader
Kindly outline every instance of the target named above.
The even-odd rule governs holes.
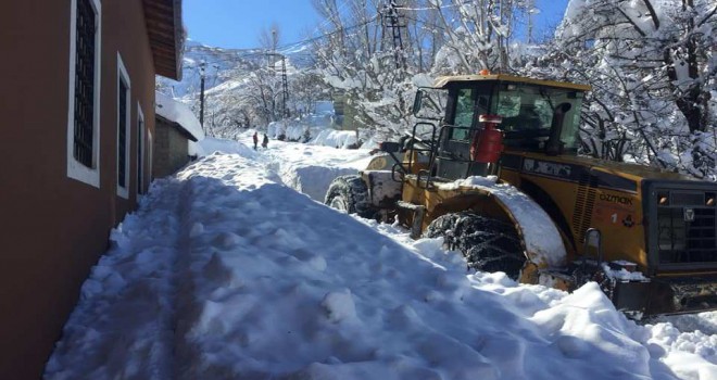
[[[177,309],[180,379],[650,375],[633,325],[596,287],[575,297],[578,309],[476,290],[462,267],[419,258],[238,156],[215,154],[180,177],[186,215],[203,226],[178,268],[189,280]]]

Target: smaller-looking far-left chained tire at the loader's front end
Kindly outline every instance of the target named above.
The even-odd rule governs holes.
[[[331,181],[324,204],[347,214],[373,218],[376,214],[368,202],[368,187],[358,175],[340,176]]]

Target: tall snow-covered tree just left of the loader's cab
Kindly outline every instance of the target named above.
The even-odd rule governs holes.
[[[408,124],[414,69],[402,60],[405,52],[397,52],[382,35],[377,10],[383,4],[347,0],[344,9],[334,0],[314,0],[314,7],[325,18],[324,29],[334,30],[314,47],[324,80],[355,110],[352,122],[374,131],[400,134]]]

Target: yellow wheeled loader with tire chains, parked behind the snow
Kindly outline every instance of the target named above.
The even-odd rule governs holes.
[[[641,318],[717,308],[717,183],[578,156],[590,87],[503,74],[439,78],[407,138],[337,178],[326,204],[443,237],[470,268],[571,291],[596,281]]]

